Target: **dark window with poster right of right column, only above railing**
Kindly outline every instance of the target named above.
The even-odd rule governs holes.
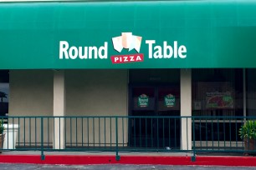
[[[243,116],[243,69],[193,69],[193,116]]]

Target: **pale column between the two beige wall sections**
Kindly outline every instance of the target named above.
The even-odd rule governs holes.
[[[65,79],[64,70],[54,70],[54,149],[64,148]]]

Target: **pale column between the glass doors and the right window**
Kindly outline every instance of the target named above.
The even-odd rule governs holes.
[[[181,69],[181,149],[192,149],[192,75],[191,69]]]

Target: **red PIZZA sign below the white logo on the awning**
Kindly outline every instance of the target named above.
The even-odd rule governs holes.
[[[143,62],[143,61],[144,61],[143,53],[111,56],[112,63]]]

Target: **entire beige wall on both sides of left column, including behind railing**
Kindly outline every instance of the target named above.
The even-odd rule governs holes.
[[[128,115],[127,70],[66,70],[65,83],[66,116]],[[53,85],[52,70],[10,71],[9,116],[53,116]],[[20,143],[24,138],[26,142],[40,142],[39,119],[24,121],[21,117],[9,119],[9,122],[19,122]],[[100,119],[100,122],[99,119],[84,118],[78,122],[72,119],[71,124],[70,121],[65,123],[66,143],[71,140],[86,144],[88,141],[115,143],[115,118]],[[127,120],[119,119],[118,127],[119,143],[127,143]],[[52,143],[53,136],[53,119],[45,118],[44,142]]]

